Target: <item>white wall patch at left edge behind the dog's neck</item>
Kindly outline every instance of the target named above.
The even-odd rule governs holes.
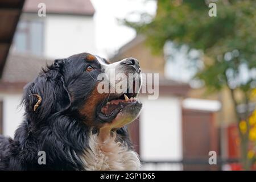
[[[1,93],[3,101],[3,135],[14,137],[14,132],[23,121],[24,109],[18,107],[22,98],[21,93]]]

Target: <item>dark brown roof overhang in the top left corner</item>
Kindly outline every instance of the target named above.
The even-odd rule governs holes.
[[[0,77],[5,67],[16,25],[22,12],[24,0],[0,1]]]

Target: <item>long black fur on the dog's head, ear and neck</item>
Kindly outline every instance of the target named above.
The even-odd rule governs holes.
[[[84,71],[89,64],[86,55],[55,60],[24,88],[23,123],[14,139],[0,135],[0,170],[84,169],[79,155],[88,148],[90,127],[78,110],[86,104],[102,72],[98,61],[90,63],[97,68],[91,75]],[[36,111],[38,99],[32,94],[42,97]],[[118,129],[117,135],[131,147],[125,127]],[[46,165],[38,164],[39,151],[46,152]]]

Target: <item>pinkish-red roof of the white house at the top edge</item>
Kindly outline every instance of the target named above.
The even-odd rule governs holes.
[[[46,13],[92,16],[95,13],[90,0],[26,0],[23,11],[37,13],[39,3],[46,4]]]

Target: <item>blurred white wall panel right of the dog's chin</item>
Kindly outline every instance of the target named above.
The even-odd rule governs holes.
[[[181,160],[181,105],[179,98],[141,98],[140,146],[142,160]]]

